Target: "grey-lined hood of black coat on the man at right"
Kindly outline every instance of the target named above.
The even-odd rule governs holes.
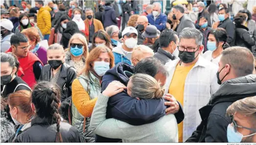
[[[209,104],[235,102],[256,95],[256,74],[250,74],[228,80],[221,84],[211,97]]]

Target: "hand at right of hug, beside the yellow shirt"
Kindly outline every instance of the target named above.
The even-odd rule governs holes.
[[[169,108],[165,109],[166,115],[168,114],[175,114],[180,110],[180,105],[177,102],[177,100],[174,98],[173,95],[167,93],[163,96],[165,100],[168,100],[170,102],[164,102],[164,105],[170,106]]]

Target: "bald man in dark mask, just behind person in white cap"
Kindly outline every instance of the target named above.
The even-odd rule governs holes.
[[[146,27],[149,25],[148,19],[146,16],[140,16],[137,20],[137,31],[138,31],[138,45],[143,44],[145,37],[142,36],[142,33],[146,30]]]

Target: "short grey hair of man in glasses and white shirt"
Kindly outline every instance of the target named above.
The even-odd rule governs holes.
[[[180,35],[179,38],[185,38],[185,39],[195,39],[196,40],[196,45],[202,45],[203,44],[203,35],[202,33],[197,30],[196,28],[184,28]]]

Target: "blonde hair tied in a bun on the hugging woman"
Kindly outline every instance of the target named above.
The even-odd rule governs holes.
[[[164,88],[161,87],[160,81],[148,74],[136,73],[130,78],[130,81],[132,83],[131,97],[141,99],[160,99],[163,97]]]

